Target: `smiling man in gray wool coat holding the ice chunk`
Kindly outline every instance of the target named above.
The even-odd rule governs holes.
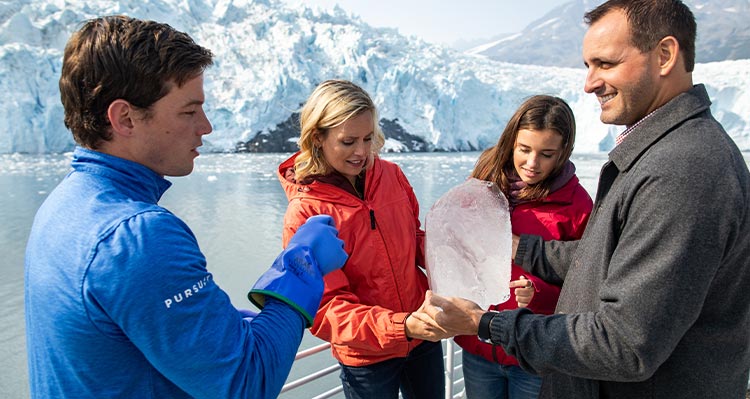
[[[677,0],[585,15],[585,90],[625,125],[575,242],[514,237],[515,261],[562,284],[555,315],[486,312],[428,293],[453,334],[502,345],[541,397],[744,398],[750,368],[750,176],[693,85],[696,25]]]

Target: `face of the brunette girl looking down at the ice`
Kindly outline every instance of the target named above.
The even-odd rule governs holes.
[[[562,153],[562,135],[554,130],[520,129],[513,147],[513,166],[528,185],[546,179]]]

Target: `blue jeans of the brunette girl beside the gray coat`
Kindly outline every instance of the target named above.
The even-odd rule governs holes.
[[[518,366],[493,363],[482,356],[463,352],[464,387],[467,399],[536,399],[542,378]]]

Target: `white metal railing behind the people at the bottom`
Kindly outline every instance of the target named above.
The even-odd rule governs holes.
[[[459,399],[464,396],[464,379],[461,369],[461,348],[453,343],[453,340],[447,339],[443,340],[443,365],[445,370],[445,399]],[[305,376],[302,376],[300,378],[297,378],[292,381],[287,381],[286,384],[284,384],[284,387],[281,388],[281,393],[289,392],[293,389],[300,388],[306,384],[309,384],[313,381],[319,380],[331,373],[337,372],[339,370],[339,364],[336,362],[333,357],[331,357],[330,352],[328,349],[331,347],[331,344],[328,342],[322,343],[320,345],[314,346],[312,348],[308,348],[305,350],[301,350],[297,352],[297,356],[295,356],[294,361],[297,362],[300,359],[305,359],[314,355],[318,355],[319,353],[325,353],[325,355],[318,355],[320,359],[318,359],[318,363],[323,364],[323,368],[321,368],[318,371],[312,372],[310,374],[307,374]],[[457,356],[459,355],[459,356]],[[324,357],[325,356],[325,357]],[[328,366],[325,366],[326,364],[330,364]],[[326,399],[326,398],[332,398],[337,394],[340,394],[343,392],[343,388],[341,385],[337,385],[334,388],[329,389],[328,391],[325,391],[317,396],[312,397],[311,399]]]

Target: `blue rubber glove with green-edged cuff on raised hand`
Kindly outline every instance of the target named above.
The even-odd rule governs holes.
[[[300,226],[247,297],[259,309],[265,306],[266,296],[276,298],[300,312],[310,327],[323,297],[323,275],[341,268],[348,257],[333,218],[313,216]]]

